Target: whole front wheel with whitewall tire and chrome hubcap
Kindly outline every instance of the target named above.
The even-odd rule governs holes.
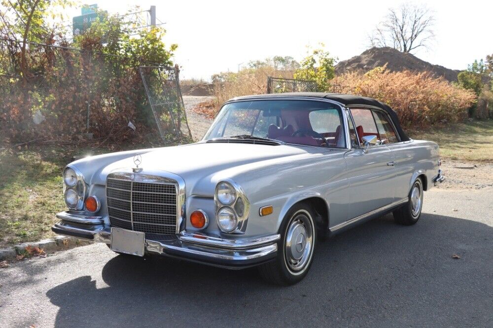
[[[292,285],[301,281],[312,264],[317,230],[314,212],[308,204],[294,205],[284,217],[278,255],[272,262],[259,266],[259,272],[269,282]]]

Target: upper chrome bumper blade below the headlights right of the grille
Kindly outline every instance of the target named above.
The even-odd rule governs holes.
[[[259,245],[276,242],[281,238],[281,235],[273,234],[269,236],[253,237],[247,239],[224,239],[207,236],[201,233],[189,233],[186,231],[182,231],[178,235],[178,238],[185,242],[217,247],[221,249],[248,249]]]

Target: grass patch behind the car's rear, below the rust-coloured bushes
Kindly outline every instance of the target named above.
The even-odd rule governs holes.
[[[493,120],[453,124],[427,131],[408,131],[413,139],[431,140],[444,159],[493,163]]]

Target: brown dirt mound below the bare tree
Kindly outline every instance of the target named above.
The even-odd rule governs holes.
[[[367,72],[375,67],[384,66],[391,71],[411,70],[416,72],[431,72],[434,76],[443,76],[447,81],[457,81],[456,69],[449,69],[440,65],[433,65],[425,62],[418,57],[405,54],[393,48],[371,48],[364,51],[361,55],[339,62],[335,66],[336,74],[343,74],[350,71]]]

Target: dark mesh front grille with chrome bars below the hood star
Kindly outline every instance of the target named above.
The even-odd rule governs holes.
[[[159,177],[110,174],[106,180],[109,222],[112,227],[145,233],[176,234],[176,193],[175,183]]]

